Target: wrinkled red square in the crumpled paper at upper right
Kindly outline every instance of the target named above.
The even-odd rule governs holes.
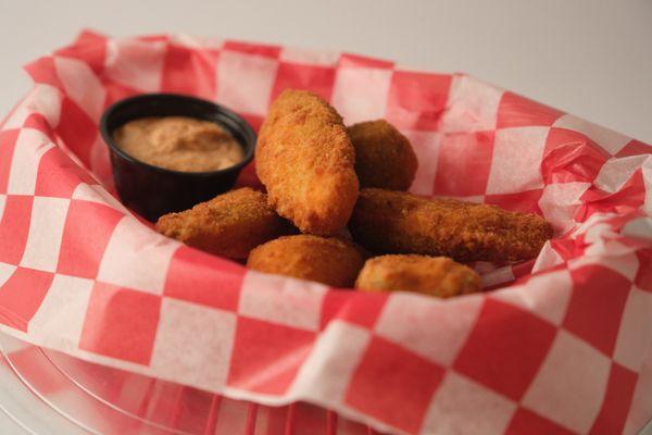
[[[581,133],[551,128],[546,140],[541,175],[544,184],[592,183],[610,156]]]

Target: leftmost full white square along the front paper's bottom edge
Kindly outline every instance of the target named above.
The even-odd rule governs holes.
[[[60,350],[75,349],[82,337],[92,286],[92,279],[54,275],[27,326],[30,336]]]

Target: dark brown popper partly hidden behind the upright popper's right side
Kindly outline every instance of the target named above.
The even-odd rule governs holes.
[[[362,122],[347,130],[355,148],[355,173],[361,188],[410,188],[418,163],[405,136],[385,120]]]

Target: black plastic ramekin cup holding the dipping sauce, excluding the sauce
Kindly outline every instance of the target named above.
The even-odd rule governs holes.
[[[190,116],[214,122],[242,146],[244,159],[234,166],[210,172],[172,171],[136,160],[117,147],[112,133],[129,121],[146,116]],[[152,222],[230,189],[242,167],[253,159],[256,139],[251,125],[229,109],[174,94],[146,94],[117,101],[102,115],[100,133],[109,146],[120,198]]]

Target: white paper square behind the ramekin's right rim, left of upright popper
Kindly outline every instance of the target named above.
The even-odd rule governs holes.
[[[264,115],[276,80],[278,61],[231,50],[217,60],[217,101],[236,112]]]

